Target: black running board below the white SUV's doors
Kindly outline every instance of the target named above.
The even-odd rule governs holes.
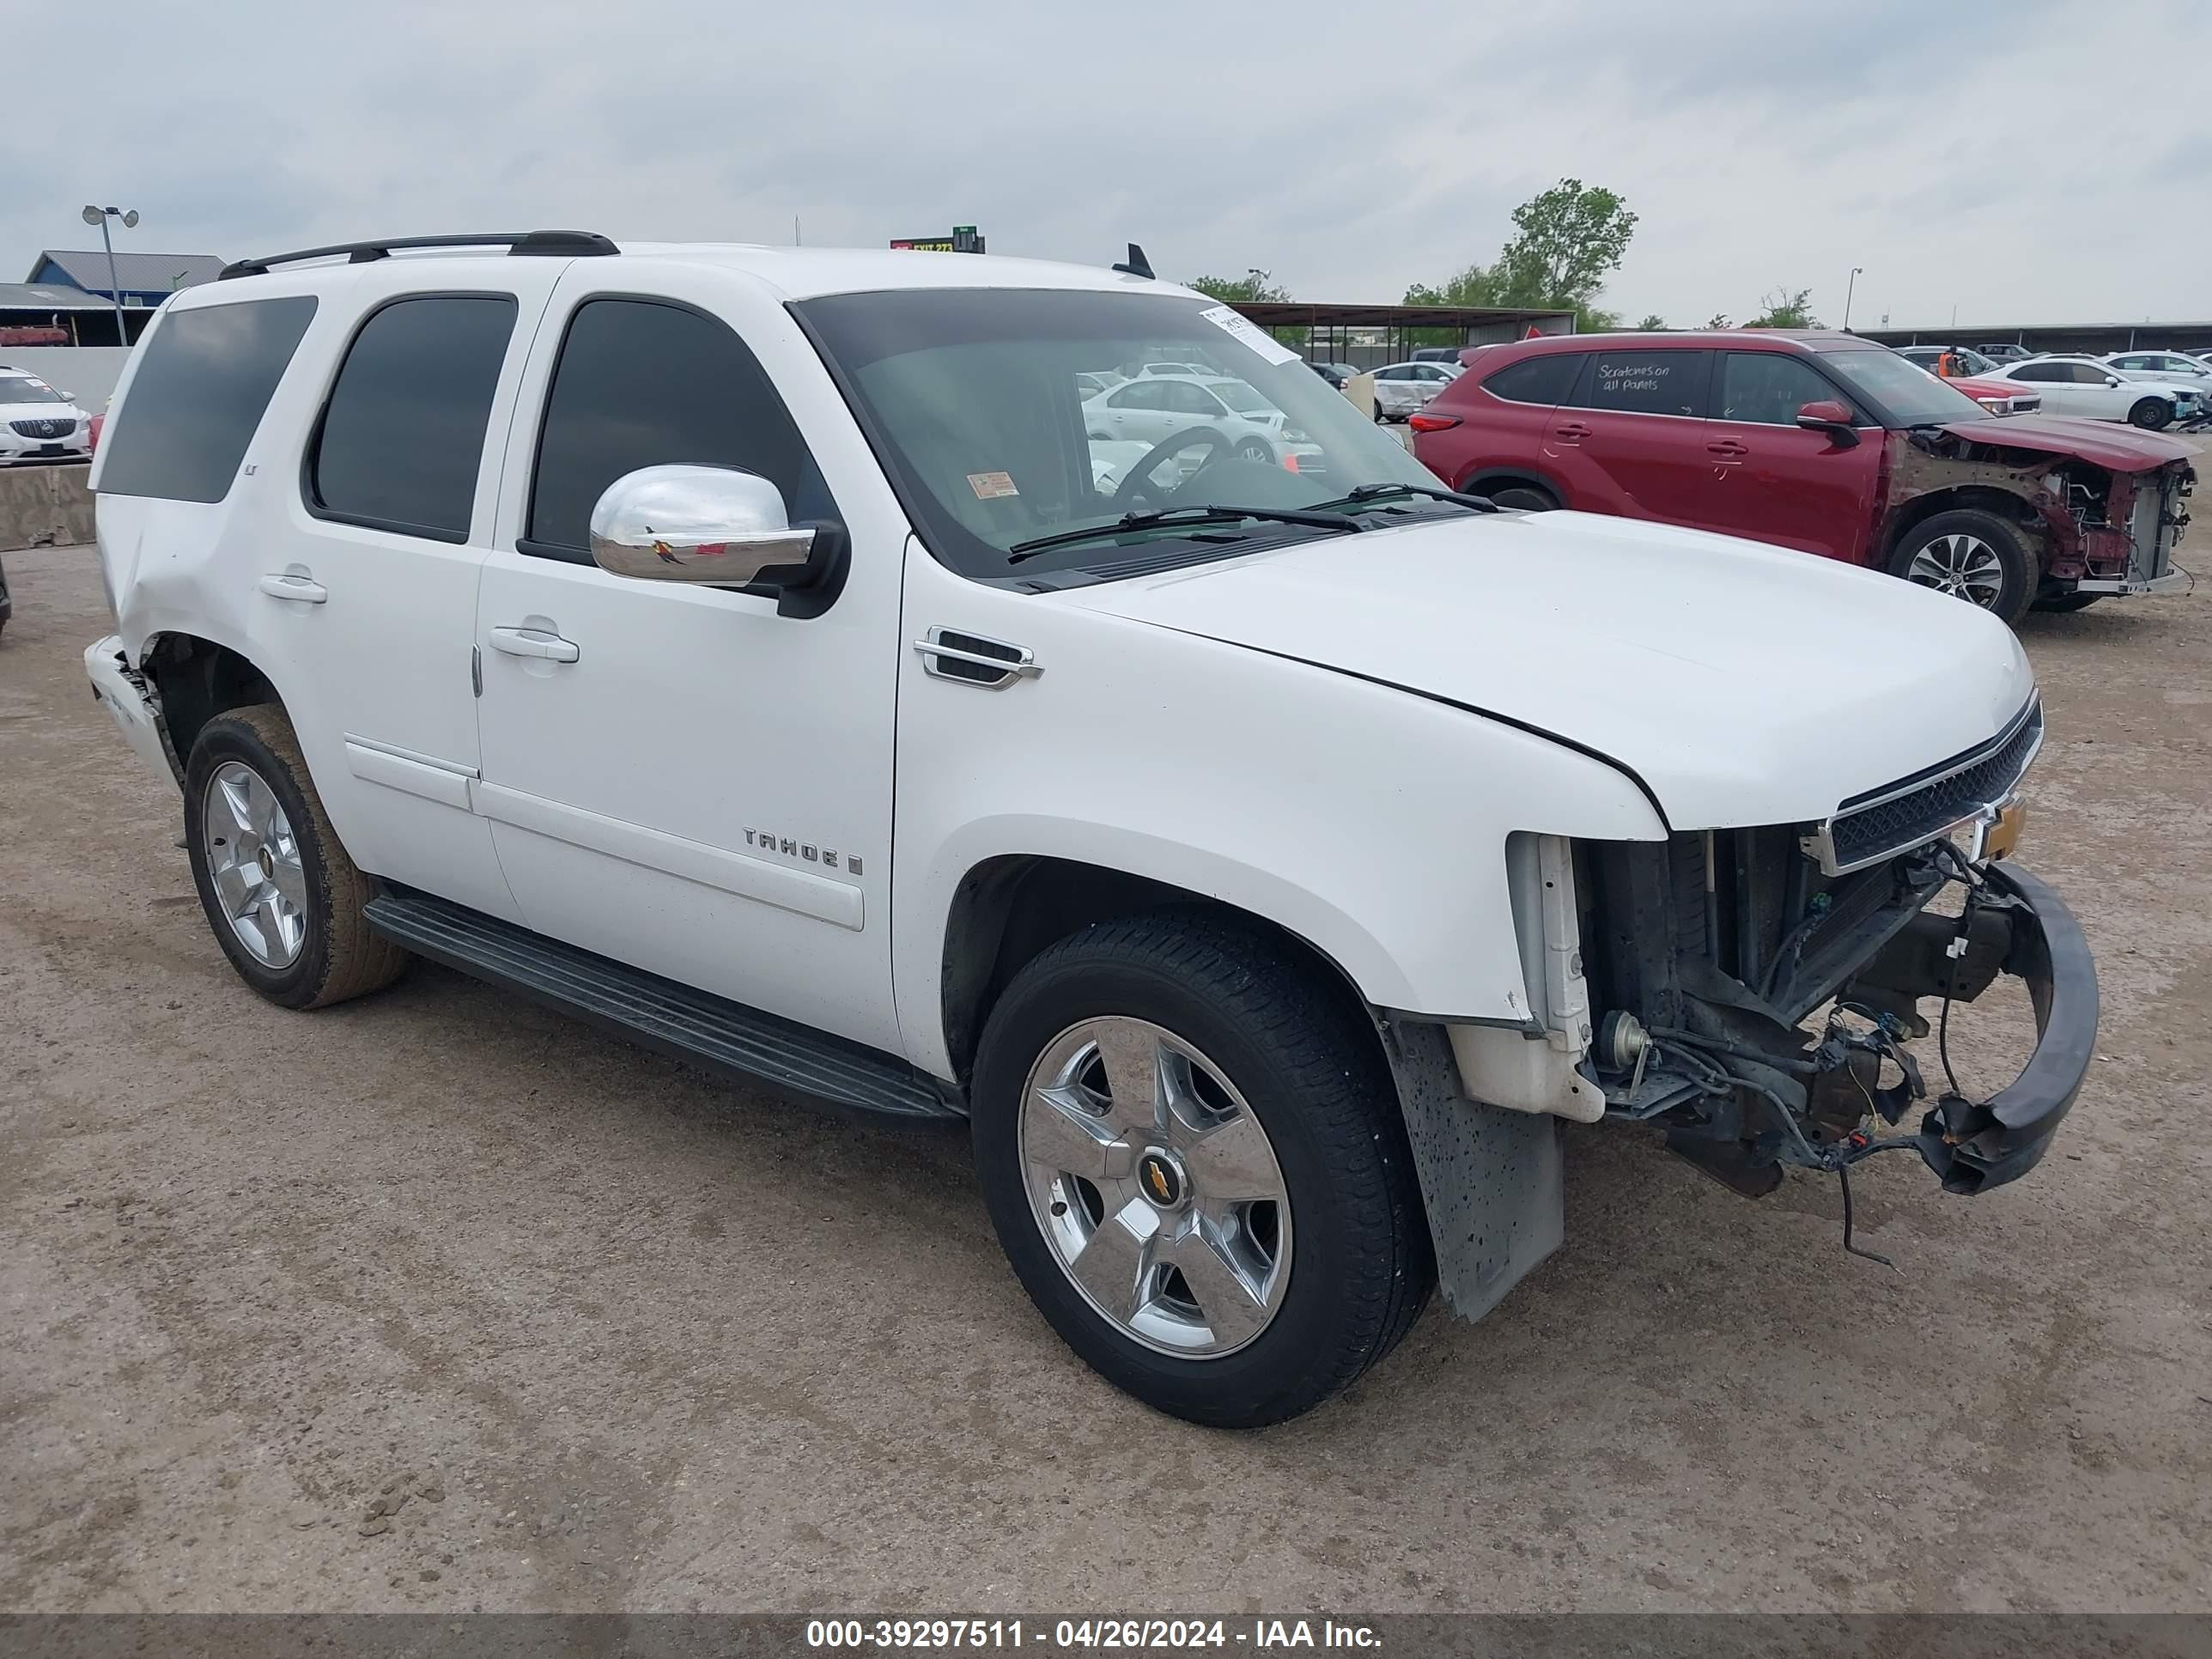
[[[416,956],[728,1077],[885,1117],[967,1117],[951,1084],[896,1055],[562,945],[467,905],[385,883],[367,902],[367,918]]]

